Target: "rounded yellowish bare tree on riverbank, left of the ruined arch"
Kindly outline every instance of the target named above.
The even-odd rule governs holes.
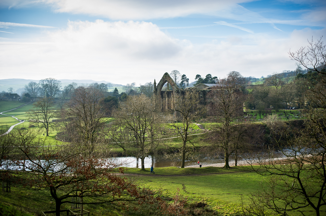
[[[144,160],[161,142],[164,118],[154,97],[146,95],[128,96],[116,110],[111,124],[111,143],[122,148],[128,155]]]

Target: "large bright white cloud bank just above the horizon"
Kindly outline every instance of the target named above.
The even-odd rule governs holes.
[[[156,82],[179,70],[193,81],[196,74],[224,77],[232,70],[244,76],[266,76],[293,70],[289,49],[326,30],[295,30],[290,37],[268,34],[229,35],[221,41],[191,44],[171,38],[150,22],[69,22],[29,42],[1,42],[2,79],[93,79],[112,83]]]

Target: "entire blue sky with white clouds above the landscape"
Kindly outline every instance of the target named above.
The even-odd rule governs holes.
[[[1,0],[0,79],[260,78],[326,38],[325,0]]]

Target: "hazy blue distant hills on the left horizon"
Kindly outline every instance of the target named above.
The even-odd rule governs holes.
[[[77,83],[77,85],[82,85],[82,84],[91,84],[91,83],[111,83],[107,81],[94,81],[94,80],[68,80],[68,79],[62,79],[59,80],[61,81],[62,87],[70,84],[70,83]],[[39,80],[25,80],[25,79],[3,79],[0,80],[0,92],[2,91],[7,91],[8,88],[12,87],[16,91],[16,93],[20,93],[23,91],[25,85],[27,85],[29,82],[36,82],[38,83]],[[123,85],[121,84],[114,84],[111,83],[112,87],[121,87]],[[111,87],[111,89],[112,89]]]

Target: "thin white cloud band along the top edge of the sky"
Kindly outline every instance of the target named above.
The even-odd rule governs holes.
[[[182,17],[190,14],[212,14],[250,0],[4,0],[8,7],[45,4],[57,12],[88,14],[113,20],[141,20]]]

